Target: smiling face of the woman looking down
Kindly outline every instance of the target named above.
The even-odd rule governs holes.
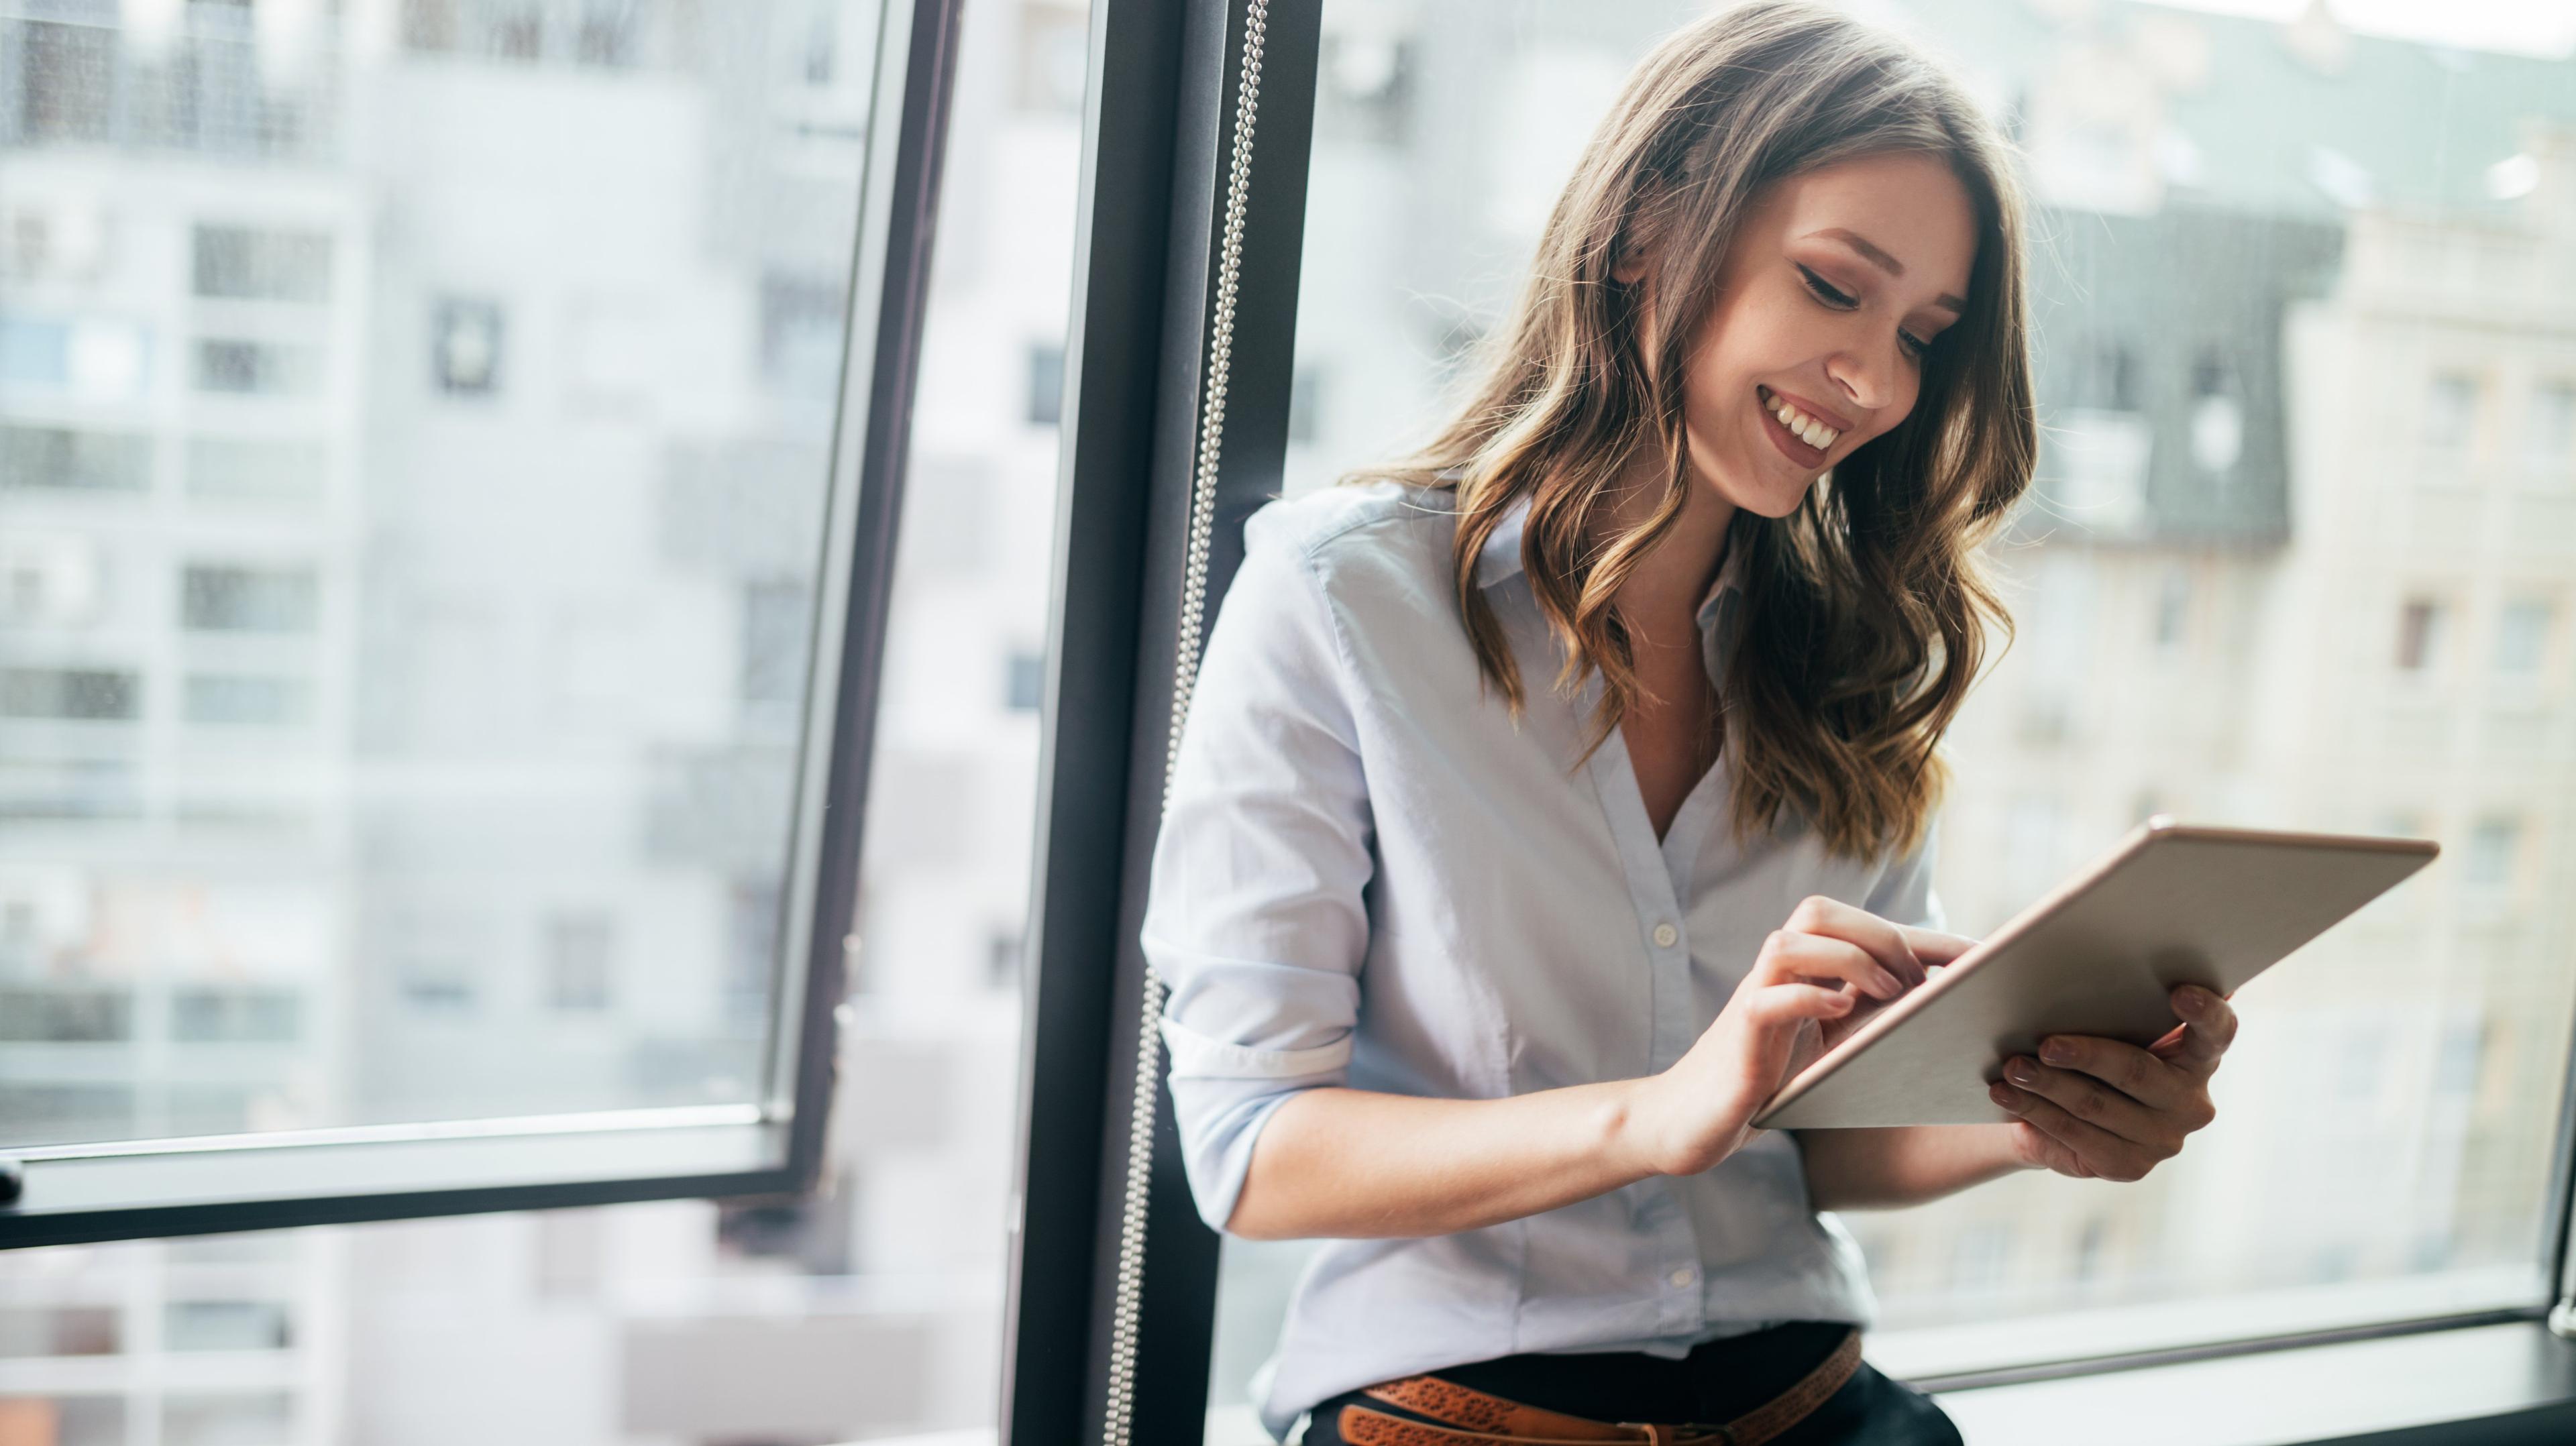
[[[1754,193],[1690,353],[1692,472],[1765,518],[1906,420],[1968,304],[1976,214],[1932,155],[1868,155]]]

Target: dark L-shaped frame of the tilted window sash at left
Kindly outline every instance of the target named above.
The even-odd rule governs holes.
[[[631,1108],[21,1147],[0,1250],[647,1199],[806,1193],[822,1173],[860,820],[963,0],[886,0],[832,420],[786,938],[762,1093]]]

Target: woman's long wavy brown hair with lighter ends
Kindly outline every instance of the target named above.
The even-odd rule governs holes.
[[[2030,485],[2038,436],[2022,299],[2022,204],[2004,139],[1904,41],[1806,3],[1754,3],[1664,39],[1595,131],[1492,338],[1468,405],[1396,477],[1455,487],[1455,588],[1486,686],[1525,706],[1476,557],[1528,500],[1522,564],[1564,650],[1558,693],[1600,673],[1589,747],[1638,701],[1620,583],[1695,485],[1685,366],[1754,196],[1883,152],[1947,160],[1976,211],[1968,312],[1922,363],[1906,420],[1785,518],[1739,510],[1747,629],[1718,686],[1736,835],[1803,815],[1834,853],[1914,848],[1940,807],[1937,755],[1989,629],[2009,637],[1978,546]],[[1643,245],[1651,235],[1654,245]],[[1613,268],[1641,258],[1643,284]],[[1643,302],[1641,302],[1643,299]],[[1654,309],[1654,366],[1638,348]],[[1664,456],[1654,516],[1600,539],[1641,448]],[[1587,750],[1589,753],[1589,750]]]

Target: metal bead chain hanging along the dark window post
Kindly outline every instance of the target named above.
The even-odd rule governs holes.
[[[1208,552],[1216,534],[1216,469],[1226,446],[1226,379],[1234,371],[1234,296],[1244,263],[1244,204],[1252,193],[1252,119],[1262,95],[1262,34],[1270,3],[1244,8],[1244,82],[1234,98],[1234,152],[1226,162],[1226,229],[1216,260],[1216,307],[1208,322],[1206,397],[1198,423],[1198,467],[1190,477],[1190,549],[1180,577],[1180,637],[1172,657],[1172,732],[1164,740],[1162,799],[1172,802],[1180,729],[1198,688],[1198,652],[1208,616]],[[1136,1415],[1136,1320],[1144,1302],[1144,1227],[1154,1183],[1154,1093],[1162,1083],[1162,977],[1144,969],[1136,1028],[1136,1093],[1128,1101],[1128,1173],[1118,1211],[1118,1289],[1110,1307],[1110,1384],[1100,1441],[1128,1446]]]

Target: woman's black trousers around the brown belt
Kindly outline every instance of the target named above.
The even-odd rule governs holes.
[[[1850,1327],[1801,1320],[1710,1340],[1680,1361],[1636,1351],[1504,1356],[1432,1374],[1520,1405],[1592,1420],[1723,1425],[1798,1384],[1842,1345],[1844,1330]],[[1334,1423],[1345,1405],[1406,1415],[1360,1392],[1337,1394],[1314,1407],[1303,1446],[1342,1446]],[[1772,1446],[1960,1446],[1960,1436],[1932,1397],[1880,1376],[1862,1361],[1832,1400],[1772,1436]]]

